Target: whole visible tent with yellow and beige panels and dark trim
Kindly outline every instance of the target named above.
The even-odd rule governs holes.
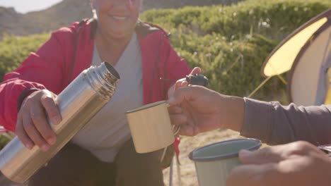
[[[263,63],[262,75],[269,79],[291,70],[289,101],[298,105],[331,104],[331,70],[325,74],[327,68],[331,69],[330,37],[328,9],[286,37]]]

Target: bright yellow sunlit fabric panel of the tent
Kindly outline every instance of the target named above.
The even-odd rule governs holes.
[[[269,56],[265,67],[262,68],[262,75],[270,77],[290,70],[303,45],[326,22],[327,18],[322,18],[290,37],[272,56]]]

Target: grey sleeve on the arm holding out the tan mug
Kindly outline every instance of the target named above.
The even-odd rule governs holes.
[[[245,121],[240,135],[267,144],[305,140],[315,145],[331,143],[331,105],[281,106],[245,98]]]

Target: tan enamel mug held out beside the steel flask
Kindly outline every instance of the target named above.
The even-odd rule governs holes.
[[[147,104],[127,111],[127,121],[137,153],[147,153],[168,147],[175,141],[166,101]]]

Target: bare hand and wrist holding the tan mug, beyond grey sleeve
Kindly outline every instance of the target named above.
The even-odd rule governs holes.
[[[228,97],[206,87],[179,87],[168,104],[171,123],[180,125],[180,135],[193,136],[223,127],[240,130],[243,125],[243,99]]]

